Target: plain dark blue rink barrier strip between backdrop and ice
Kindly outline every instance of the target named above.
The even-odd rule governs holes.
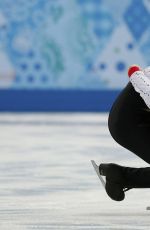
[[[0,112],[107,112],[120,90],[0,90]]]

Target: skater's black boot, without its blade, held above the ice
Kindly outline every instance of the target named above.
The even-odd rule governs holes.
[[[100,175],[106,176],[105,189],[108,196],[115,201],[122,201],[125,198],[125,179],[122,167],[117,164],[100,164]]]

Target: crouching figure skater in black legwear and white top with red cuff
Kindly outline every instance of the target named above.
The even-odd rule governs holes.
[[[128,76],[129,83],[109,113],[108,128],[117,143],[150,164],[150,67],[131,66]],[[150,188],[150,167],[107,163],[97,170],[106,176],[105,190],[115,201],[122,201],[129,189]]]

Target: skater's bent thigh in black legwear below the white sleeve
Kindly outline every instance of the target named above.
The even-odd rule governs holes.
[[[108,127],[116,142],[150,163],[150,110],[131,83],[113,104]]]

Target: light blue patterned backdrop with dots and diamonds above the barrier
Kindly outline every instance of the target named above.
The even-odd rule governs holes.
[[[117,89],[150,65],[150,0],[0,0],[0,87]]]

